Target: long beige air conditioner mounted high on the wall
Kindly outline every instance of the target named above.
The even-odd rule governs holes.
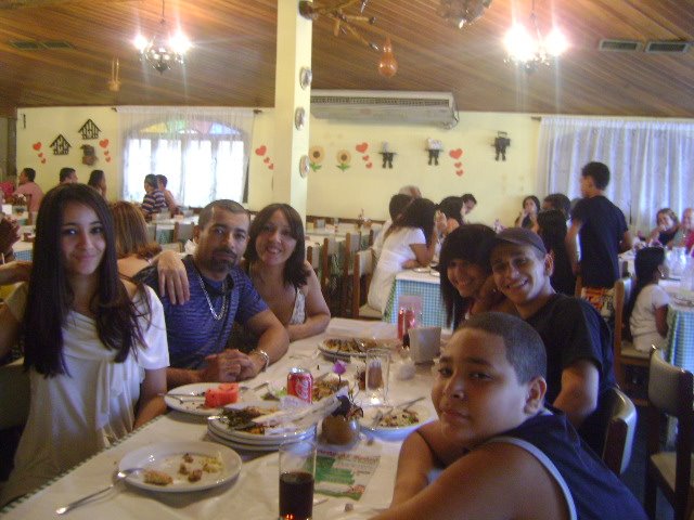
[[[450,92],[312,90],[311,114],[319,119],[393,125],[453,128],[458,123]]]

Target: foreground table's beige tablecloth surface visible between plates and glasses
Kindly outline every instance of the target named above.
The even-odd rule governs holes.
[[[265,381],[282,385],[290,369],[294,367],[304,367],[313,374],[331,372],[334,360],[325,358],[322,350],[319,350],[325,344],[323,341],[330,337],[354,336],[393,340],[396,329],[393,324],[383,322],[333,318],[325,333],[293,341],[288,352],[281,360],[270,365],[267,372],[260,373],[253,380],[244,381],[243,385],[249,389]],[[391,358],[388,401],[398,404],[414,398],[425,398],[420,403],[424,411],[421,421],[432,420],[435,412],[428,395],[434,378],[433,365],[430,363],[415,365],[412,374],[411,370],[401,369],[404,365],[411,366],[411,361],[399,354],[395,348],[391,350]],[[347,372],[344,377],[349,380],[363,364],[364,361],[361,358],[347,359]],[[402,377],[406,372],[410,372],[408,375],[412,377],[400,380],[399,377]],[[241,399],[248,399],[245,391],[242,391]],[[358,399],[359,393],[355,396],[356,401]],[[0,510],[0,517],[7,520],[56,518],[59,516],[56,508],[60,506],[112,483],[119,461],[138,450],[154,450],[157,444],[165,441],[213,442],[208,437],[206,422],[207,418],[204,416],[171,410],[54,478],[33,494],[5,506]],[[364,519],[387,508],[393,494],[398,454],[403,438],[404,434],[393,437],[364,428],[357,443],[348,448],[322,445],[319,442],[319,455],[321,450],[334,450],[338,455],[346,453],[357,458],[372,457],[377,465],[368,480],[363,494],[358,499],[322,495],[317,492],[313,518]],[[278,453],[236,451],[243,463],[239,476],[231,482],[204,491],[180,493],[145,491],[125,482],[99,498],[69,511],[68,516],[74,520],[93,520],[94,518],[100,520],[123,518],[267,520],[278,518]]]

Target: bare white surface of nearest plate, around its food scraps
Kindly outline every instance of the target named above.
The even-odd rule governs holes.
[[[211,473],[203,471],[203,478],[201,480],[197,482],[189,482],[188,477],[178,472],[183,461],[183,455],[187,453],[193,455],[193,463],[189,465],[192,469],[201,467],[201,461],[205,457],[219,457],[222,463],[221,471]],[[129,476],[126,481],[143,490],[180,493],[207,490],[208,487],[215,487],[224,482],[229,482],[239,476],[241,465],[242,461],[239,454],[229,447],[219,446],[211,442],[179,441],[159,442],[134,450],[120,459],[118,469],[145,468],[164,471],[174,479],[172,483],[168,485],[145,483],[143,471]]]

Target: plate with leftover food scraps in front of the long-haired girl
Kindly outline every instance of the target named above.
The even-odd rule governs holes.
[[[181,493],[215,487],[235,479],[241,457],[233,450],[201,441],[159,442],[142,446],[120,459],[120,471],[142,468],[126,482],[149,491]]]

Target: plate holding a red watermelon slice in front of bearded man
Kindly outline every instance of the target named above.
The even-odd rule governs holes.
[[[169,408],[193,415],[217,415],[222,406],[241,400],[235,382],[195,382],[177,387],[164,395]]]

